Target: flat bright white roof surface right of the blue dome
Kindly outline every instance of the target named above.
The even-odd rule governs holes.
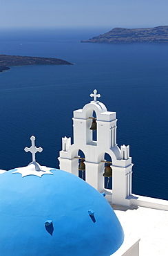
[[[157,200],[156,200],[157,201]],[[140,238],[140,256],[168,255],[168,212],[145,207],[112,205],[125,236]]]

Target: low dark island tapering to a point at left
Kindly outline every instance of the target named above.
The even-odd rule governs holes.
[[[10,69],[9,66],[27,65],[73,65],[65,60],[49,57],[29,57],[15,55],[0,55],[0,72]]]

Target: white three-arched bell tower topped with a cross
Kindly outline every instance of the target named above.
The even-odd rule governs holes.
[[[99,192],[105,192],[110,203],[129,205],[132,194],[132,158],[129,157],[129,146],[116,144],[116,112],[107,111],[99,101],[100,94],[94,97],[83,109],[74,111],[74,144],[71,138],[62,138],[60,151],[60,169],[78,176],[78,151],[85,154],[85,181]],[[93,117],[96,113],[96,118]],[[92,120],[96,120],[96,131],[90,129]],[[94,140],[96,133],[96,140]],[[112,190],[104,188],[105,153],[112,158]]]

